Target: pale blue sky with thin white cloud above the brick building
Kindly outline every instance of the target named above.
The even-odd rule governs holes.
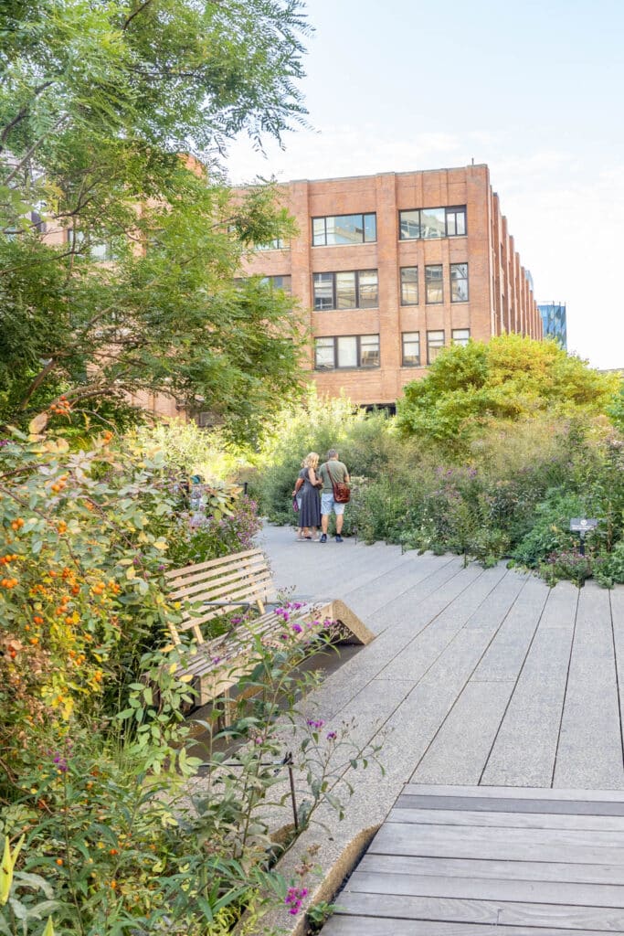
[[[568,350],[624,367],[624,3],[309,0],[310,129],[238,140],[233,183],[487,163]]]

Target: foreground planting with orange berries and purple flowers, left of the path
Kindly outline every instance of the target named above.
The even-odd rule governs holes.
[[[256,637],[245,672],[234,664],[236,702],[184,720],[195,647],[168,643],[179,492],[166,456],[110,432],[71,452],[44,421],[0,446],[0,932],[257,932],[296,886],[273,867],[294,841],[274,841],[289,822],[284,754],[300,828],[323,803],[341,817],[349,771],[376,759],[352,725],[324,732],[297,709],[319,678],[300,666],[333,623],[303,635],[283,607],[280,646]],[[257,522],[248,499],[222,519],[218,548]]]

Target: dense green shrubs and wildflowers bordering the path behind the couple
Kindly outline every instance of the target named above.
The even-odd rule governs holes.
[[[577,408],[565,417],[555,407],[514,420],[484,417],[478,433],[453,451],[430,435],[396,431],[396,421],[383,414],[348,407],[337,414],[335,402],[312,403],[313,418],[305,409],[284,414],[277,440],[263,449],[256,489],[269,519],[293,522],[297,457],[322,451],[331,433],[341,458],[363,475],[346,511],[347,534],[453,551],[485,565],[507,558],[550,580],[565,574],[580,580],[572,561],[549,557],[577,552],[572,517],[596,517],[592,568],[604,583],[617,580],[617,559],[609,557],[624,539],[624,446],[604,416]]]

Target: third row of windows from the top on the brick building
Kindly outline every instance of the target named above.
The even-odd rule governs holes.
[[[470,329],[453,329],[452,344],[468,344]],[[441,329],[427,332],[427,363],[438,357],[445,344]],[[402,366],[420,367],[420,332],[403,331],[401,334]],[[379,367],[379,335],[333,335],[314,339],[314,367],[317,371],[344,368]]]

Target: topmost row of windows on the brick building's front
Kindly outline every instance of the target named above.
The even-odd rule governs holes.
[[[430,240],[466,235],[466,206],[412,208],[399,212],[399,240]],[[377,240],[377,214],[327,214],[312,218],[312,247],[374,243]],[[258,244],[256,250],[283,250],[282,238]]]

